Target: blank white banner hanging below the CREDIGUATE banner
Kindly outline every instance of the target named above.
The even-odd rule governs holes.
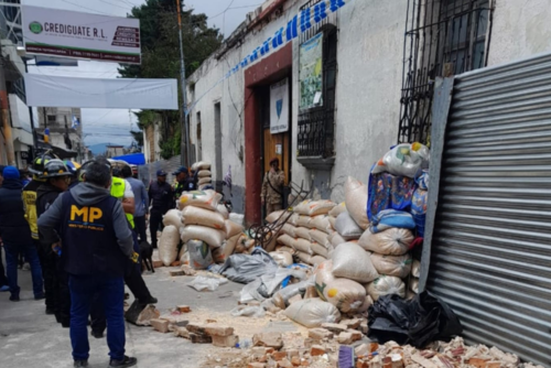
[[[177,110],[176,79],[76,78],[25,74],[26,102],[40,107]]]

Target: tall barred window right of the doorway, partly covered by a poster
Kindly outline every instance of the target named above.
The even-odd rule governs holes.
[[[320,0],[307,1],[301,10],[312,8]],[[321,106],[299,107],[299,127],[296,132],[298,160],[304,165],[312,163],[312,158],[333,158],[335,131],[335,93],[337,74],[337,29],[335,14],[328,15],[301,34],[301,45],[317,34],[323,36],[322,52],[322,95]]]

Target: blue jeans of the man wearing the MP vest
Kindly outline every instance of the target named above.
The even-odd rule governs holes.
[[[122,278],[106,274],[69,275],[71,344],[74,360],[88,360],[88,315],[96,293],[104,303],[107,318],[107,346],[111,359],[125,358],[125,282]]]

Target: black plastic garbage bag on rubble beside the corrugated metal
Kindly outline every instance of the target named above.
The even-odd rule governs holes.
[[[423,348],[429,343],[461,335],[463,326],[452,309],[428,291],[404,300],[396,294],[379,297],[369,307],[371,340]]]

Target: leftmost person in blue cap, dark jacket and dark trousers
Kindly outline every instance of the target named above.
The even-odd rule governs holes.
[[[18,259],[23,253],[31,266],[34,299],[44,299],[44,283],[40,267],[39,253],[33,243],[31,228],[25,219],[22,190],[18,169],[6,166],[2,172],[3,183],[0,187],[0,238],[6,251],[6,266],[10,285],[10,301],[19,302]]]

